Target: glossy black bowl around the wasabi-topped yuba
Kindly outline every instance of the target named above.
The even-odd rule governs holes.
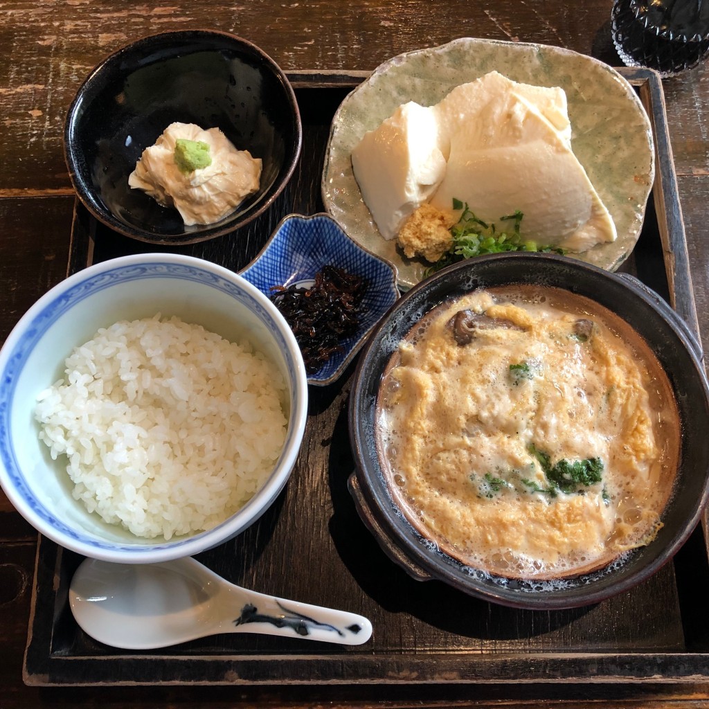
[[[128,175],[170,123],[220,128],[260,157],[259,191],[217,223],[186,226],[175,209],[130,189]],[[301,150],[298,104],[284,72],[247,40],[211,30],[153,35],[118,50],[79,88],[65,124],[69,176],[86,208],[153,244],[191,244],[258,216],[288,182]]]

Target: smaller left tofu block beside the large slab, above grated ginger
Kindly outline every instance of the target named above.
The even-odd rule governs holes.
[[[428,201],[445,175],[438,125],[430,108],[396,109],[352,150],[352,169],[379,232],[394,238],[403,221]]]

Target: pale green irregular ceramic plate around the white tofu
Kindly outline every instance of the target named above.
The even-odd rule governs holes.
[[[352,148],[406,101],[437,104],[454,86],[493,69],[516,82],[561,86],[571,120],[571,145],[601,200],[618,239],[578,257],[614,271],[640,236],[654,177],[652,130],[628,82],[608,65],[558,47],[461,38],[399,55],[374,70],[337,109],[323,170],[325,209],[359,245],[398,269],[399,285],[423,279],[427,264],[407,259],[386,241],[362,201],[352,173]]]

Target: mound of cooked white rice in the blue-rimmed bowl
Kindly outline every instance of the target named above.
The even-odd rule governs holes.
[[[160,315],[99,330],[38,396],[73,495],[138,537],[207,530],[248,501],[284,446],[286,382],[247,342]]]

